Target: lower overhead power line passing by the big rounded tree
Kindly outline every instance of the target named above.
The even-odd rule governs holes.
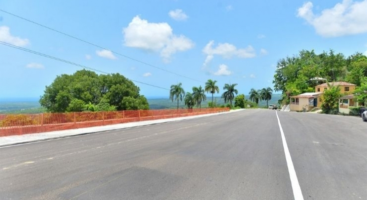
[[[82,64],[78,64],[78,63],[75,63],[75,62],[72,62],[72,61],[69,61],[69,60],[65,60],[65,59],[54,57],[54,56],[51,56],[51,55],[48,55],[48,54],[37,52],[37,51],[31,50],[31,49],[28,49],[28,48],[24,48],[24,47],[21,47],[21,46],[17,46],[17,45],[14,45],[14,44],[11,44],[11,43],[2,41],[2,40],[0,40],[0,43],[3,44],[3,45],[6,45],[6,46],[10,46],[10,47],[13,47],[13,48],[17,48],[17,49],[20,49],[20,50],[27,51],[27,52],[30,52],[30,53],[34,53],[34,54],[41,55],[41,56],[44,56],[44,57],[48,57],[48,58],[51,58],[51,59],[55,59],[55,60],[58,60],[58,61],[66,62],[68,64],[72,64],[72,65],[75,65],[75,66],[80,66],[82,68],[90,69],[90,70],[93,70],[93,71],[98,71],[100,73],[110,74],[110,73],[108,73],[106,71],[101,71],[101,70],[96,69],[96,68],[92,68],[92,67],[85,66],[85,65],[82,65]],[[130,79],[130,78],[128,78],[128,79]],[[164,88],[164,87],[160,87],[160,86],[157,86],[157,85],[153,85],[153,84],[141,82],[141,81],[138,81],[138,80],[133,80],[133,79],[130,79],[130,80],[131,81],[134,81],[134,82],[141,83],[141,84],[145,84],[145,85],[149,85],[149,86],[153,86],[153,87],[157,87],[157,88],[169,90],[169,89]]]

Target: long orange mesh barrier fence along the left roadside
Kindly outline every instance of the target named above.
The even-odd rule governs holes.
[[[225,108],[123,110],[42,114],[0,114],[0,136],[66,130],[134,121],[229,111]]]

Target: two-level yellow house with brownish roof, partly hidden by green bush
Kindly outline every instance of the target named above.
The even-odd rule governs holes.
[[[330,86],[339,86],[340,92],[343,94],[352,94],[355,90],[355,84],[349,82],[329,82]],[[291,111],[309,111],[314,107],[320,107],[322,103],[322,93],[328,89],[327,83],[322,83],[315,86],[315,92],[306,92],[290,97],[290,110]],[[350,99],[350,98],[349,98]],[[345,99],[344,99],[345,101]],[[350,99],[348,104],[354,102]],[[339,103],[340,104],[340,103]]]

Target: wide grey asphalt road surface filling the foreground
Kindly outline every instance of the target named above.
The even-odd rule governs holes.
[[[366,122],[277,113],[304,199],[367,199]],[[293,187],[275,110],[0,148],[1,199],[294,199]]]

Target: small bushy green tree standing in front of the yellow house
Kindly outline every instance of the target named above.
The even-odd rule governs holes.
[[[332,114],[338,112],[339,98],[342,96],[339,87],[329,86],[322,94],[321,109],[323,113]]]

